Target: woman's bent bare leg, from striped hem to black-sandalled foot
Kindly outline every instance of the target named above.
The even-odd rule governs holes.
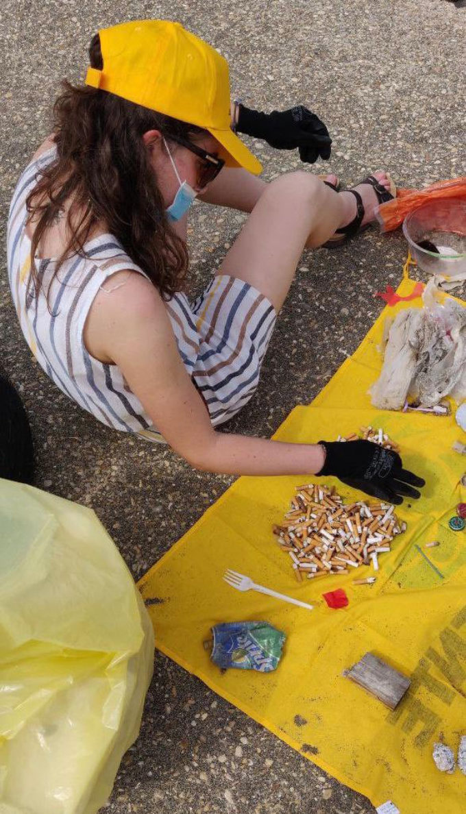
[[[385,173],[376,173],[385,178]],[[388,184],[388,182],[387,182]],[[373,220],[377,200],[370,186],[356,187],[366,216]],[[336,193],[310,173],[288,173],[267,185],[218,274],[257,288],[279,312],[305,246],[319,247],[354,218],[349,192]]]

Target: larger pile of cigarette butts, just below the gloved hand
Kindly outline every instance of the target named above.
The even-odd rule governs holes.
[[[389,503],[345,504],[335,488],[305,484],[297,487],[281,526],[274,526],[280,548],[292,559],[297,580],[303,575],[349,574],[351,568],[372,564],[390,551],[393,537],[406,530]],[[374,581],[369,577],[362,582]],[[359,581],[359,580],[358,580]]]

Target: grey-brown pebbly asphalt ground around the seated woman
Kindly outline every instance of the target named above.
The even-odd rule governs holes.
[[[231,64],[244,103],[270,111],[304,103],[334,140],[344,182],[387,168],[402,186],[466,172],[464,2],[447,0],[3,0],[0,182],[1,361],[24,399],[37,446],[37,485],[92,506],[138,579],[231,483],[199,473],[169,449],[111,431],[42,374],[20,334],[7,284],[7,207],[21,168],[50,129],[59,82],[80,81],[98,28],[176,19]],[[266,179],[297,154],[251,142]],[[311,168],[310,168],[311,169]],[[196,206],[192,291],[209,281],[244,216]],[[319,392],[380,313],[375,291],[400,279],[402,234],[376,229],[341,250],[303,255],[270,344],[262,386],[231,422],[270,435]],[[108,810],[253,814],[369,814],[341,786],[193,676],[158,655],[138,742],[125,756]]]

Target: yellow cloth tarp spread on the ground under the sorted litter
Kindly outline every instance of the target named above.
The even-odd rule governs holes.
[[[403,280],[398,293],[412,290]],[[466,458],[451,451],[461,431],[453,417],[372,409],[367,396],[380,371],[376,346],[385,316],[412,305],[420,300],[385,309],[323,392],[294,409],[275,435],[314,442],[363,425],[384,427],[400,444],[405,466],[425,477],[420,500],[397,508],[407,532],[395,538],[392,553],[380,555],[376,585],[355,587],[354,574],[295,581],[270,530],[301,476],[238,479],[140,589],[157,600],[149,610],[160,650],[338,780],[376,806],[393,800],[402,814],[464,814],[466,777],[458,769],[438,772],[432,759],[433,742],[444,737],[456,750],[466,734],[466,532],[448,527],[455,505],[466,500],[459,484]],[[345,497],[358,494],[335,479],[326,482]],[[424,550],[443,580],[414,547],[430,540],[441,542]],[[316,607],[237,592],[222,580],[226,568]],[[357,575],[369,573],[363,567]],[[331,610],[322,593],[340,587],[349,606]],[[210,663],[202,644],[210,626],[240,619],[266,619],[286,633],[276,672],[222,675]],[[343,676],[368,650],[411,676],[395,712]]]

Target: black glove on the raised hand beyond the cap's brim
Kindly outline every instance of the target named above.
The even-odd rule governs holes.
[[[314,164],[319,155],[325,161],[330,158],[332,139],[328,129],[319,116],[301,104],[281,113],[278,110],[260,113],[240,104],[236,131],[262,138],[277,150],[299,147],[301,161],[308,164]]]

